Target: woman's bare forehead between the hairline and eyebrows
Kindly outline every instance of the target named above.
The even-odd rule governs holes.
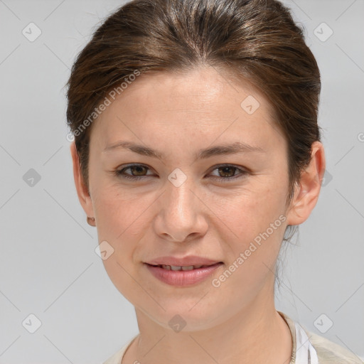
[[[140,75],[102,112],[93,128],[92,137],[103,148],[121,133],[156,142],[160,142],[157,134],[186,137],[190,143],[201,143],[198,138],[206,137],[209,144],[215,138],[228,141],[237,136],[251,144],[282,139],[262,93],[213,67]]]

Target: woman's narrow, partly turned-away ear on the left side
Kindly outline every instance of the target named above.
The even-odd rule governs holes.
[[[88,217],[93,218],[95,216],[92,200],[90,193],[85,185],[85,181],[83,180],[82,173],[80,171],[80,161],[77,154],[76,144],[73,141],[70,145],[70,152],[73,161],[73,178],[75,179],[75,186],[77,190],[77,196],[80,200],[83,210]]]

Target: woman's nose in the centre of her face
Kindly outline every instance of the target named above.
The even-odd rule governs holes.
[[[158,209],[154,228],[164,240],[189,242],[208,230],[208,208],[198,196],[193,178],[188,177],[181,186],[167,181]]]

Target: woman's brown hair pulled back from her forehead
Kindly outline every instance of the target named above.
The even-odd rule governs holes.
[[[136,73],[197,65],[251,82],[272,105],[288,142],[288,203],[311,160],[311,144],[320,141],[321,82],[303,30],[276,0],[134,0],[110,15],[77,55],[67,84],[67,119],[86,186],[90,115],[97,117],[108,92]]]

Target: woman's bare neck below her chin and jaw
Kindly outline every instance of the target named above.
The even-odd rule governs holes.
[[[178,333],[136,309],[140,335],[122,363],[289,364],[291,332],[267,300],[255,301],[228,321],[202,331]]]

